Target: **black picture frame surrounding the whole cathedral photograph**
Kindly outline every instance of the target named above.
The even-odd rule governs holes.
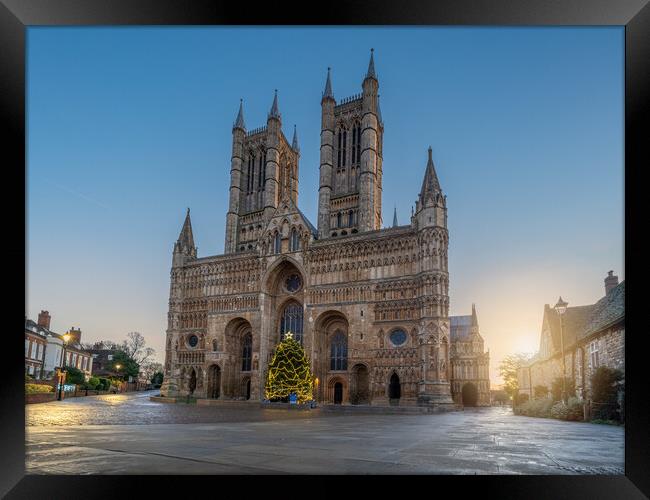
[[[339,2],[336,8],[306,2],[266,2],[254,8],[241,2],[206,0],[0,0],[0,100],[5,178],[3,263],[12,274],[8,291],[10,325],[3,346],[4,383],[0,389],[2,413],[2,453],[0,453],[0,494],[7,498],[131,498],[139,495],[171,496],[174,491],[199,495],[201,486],[224,487],[226,478],[161,476],[25,476],[25,411],[23,392],[23,342],[18,335],[17,293],[25,282],[19,262],[25,259],[26,218],[20,220],[16,207],[26,207],[25,184],[25,34],[29,26],[72,25],[503,25],[503,26],[625,26],[625,262],[633,272],[626,276],[627,349],[625,398],[625,475],[624,476],[466,476],[426,477],[429,491],[442,494],[468,487],[475,494],[503,498],[644,498],[650,496],[650,427],[648,419],[647,352],[640,311],[642,286],[649,281],[640,265],[644,250],[643,191],[641,176],[650,169],[648,144],[644,135],[650,129],[648,94],[650,91],[650,7],[648,0],[439,0],[435,2]],[[9,154],[7,154],[9,153]],[[9,187],[11,186],[11,187]],[[598,193],[606,196],[606,193]],[[15,197],[15,198],[13,198]],[[9,227],[7,227],[7,225]],[[647,226],[647,222],[645,222]],[[607,237],[607,228],[602,228]],[[22,236],[22,237],[21,237]],[[15,274],[15,279],[13,274]],[[23,275],[22,277],[20,275]],[[62,284],[66,286],[66,284]],[[22,296],[22,307],[26,295]],[[23,321],[23,318],[20,318]],[[635,328],[636,327],[636,328]],[[644,376],[645,375],[645,376]],[[326,471],[324,471],[326,472]],[[185,477],[185,479],[184,479]],[[373,477],[383,483],[385,478]],[[422,478],[420,478],[422,479]],[[291,478],[263,480],[259,492],[294,489],[296,494],[317,492],[323,479],[306,482]],[[394,479],[393,479],[394,480]],[[400,478],[399,481],[411,481]],[[235,478],[236,483],[241,480]],[[370,481],[354,481],[365,488]],[[246,481],[247,494],[251,494]],[[331,484],[331,483],[328,483]],[[404,488],[404,486],[401,486]],[[303,488],[306,488],[303,490]],[[346,486],[350,491],[350,485]],[[439,489],[440,488],[440,489]],[[462,490],[460,489],[462,488]],[[427,491],[425,490],[425,491]],[[209,491],[209,490],[208,490]],[[222,490],[225,491],[225,490]],[[408,490],[406,490],[408,491]],[[415,493],[417,490],[413,490]],[[299,493],[300,492],[300,493]],[[291,493],[290,493],[291,494]]]

